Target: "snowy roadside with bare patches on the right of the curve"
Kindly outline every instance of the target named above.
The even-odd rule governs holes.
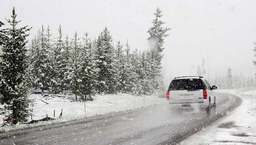
[[[225,118],[188,137],[179,145],[256,145],[256,90],[218,92],[237,94],[243,103]]]

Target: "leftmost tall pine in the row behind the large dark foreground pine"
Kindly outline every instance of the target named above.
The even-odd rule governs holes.
[[[44,33],[44,27],[40,31],[38,45],[36,46],[35,62],[33,63],[35,84],[44,92],[52,87],[52,50],[49,45],[47,34]]]

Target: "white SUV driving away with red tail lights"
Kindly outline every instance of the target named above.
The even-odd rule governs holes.
[[[166,99],[170,104],[182,104],[183,107],[190,107],[193,103],[199,103],[207,110],[216,106],[216,97],[208,81],[200,76],[176,77],[170,83]]]

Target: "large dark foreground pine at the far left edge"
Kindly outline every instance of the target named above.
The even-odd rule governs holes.
[[[3,54],[0,56],[0,102],[4,104],[2,114],[12,118],[14,124],[19,120],[25,121],[29,113],[27,69],[28,56],[25,47],[26,34],[31,28],[28,26],[17,28],[20,21],[16,20],[15,8],[12,9],[11,20],[7,22],[11,25],[10,29],[3,31],[8,37],[1,37]]]

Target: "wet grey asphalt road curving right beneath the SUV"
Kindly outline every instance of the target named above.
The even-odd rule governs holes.
[[[168,103],[85,120],[0,133],[1,145],[172,145],[234,110],[242,100],[216,93],[216,109]]]

